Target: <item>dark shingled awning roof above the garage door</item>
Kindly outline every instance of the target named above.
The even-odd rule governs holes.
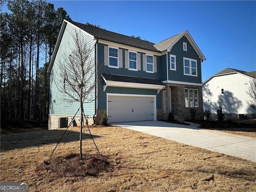
[[[157,80],[157,79],[123,76],[123,75],[115,75],[115,74],[107,74],[107,73],[102,73],[102,76],[107,81],[142,83],[142,84],[152,84],[152,85],[163,85],[164,86],[164,84],[160,80]]]

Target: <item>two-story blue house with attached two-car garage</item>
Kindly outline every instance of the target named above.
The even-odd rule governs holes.
[[[95,100],[85,113],[96,123],[106,112],[108,122],[160,120],[170,111],[190,118],[190,109],[203,118],[201,63],[206,60],[188,31],[158,44],[64,20],[50,61],[49,129],[58,118],[71,118],[79,104],[61,101],[55,80],[63,55],[70,54],[72,34],[80,30],[93,49],[97,85]]]

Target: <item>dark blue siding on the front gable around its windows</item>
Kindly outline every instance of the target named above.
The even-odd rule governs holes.
[[[187,51],[183,50],[183,42],[187,43]],[[170,54],[176,55],[176,71],[170,70]],[[184,75],[183,57],[197,60],[197,77]],[[182,37],[168,52],[168,80],[202,83],[200,58],[186,37]]]

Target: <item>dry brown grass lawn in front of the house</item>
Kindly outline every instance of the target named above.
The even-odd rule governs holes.
[[[114,126],[91,128],[111,172],[56,177],[40,167],[63,132],[1,135],[0,182],[29,182],[31,192],[256,191],[255,162]],[[69,128],[51,159],[78,153],[78,139],[79,128]],[[88,131],[83,151],[97,153]]]

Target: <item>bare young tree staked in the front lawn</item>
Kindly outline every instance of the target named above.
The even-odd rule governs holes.
[[[70,54],[64,55],[60,62],[60,79],[55,84],[63,93],[62,100],[68,104],[78,102],[81,109],[80,158],[82,159],[83,104],[95,100],[95,62],[94,46],[88,46],[80,30],[72,36],[74,44],[70,45]]]

